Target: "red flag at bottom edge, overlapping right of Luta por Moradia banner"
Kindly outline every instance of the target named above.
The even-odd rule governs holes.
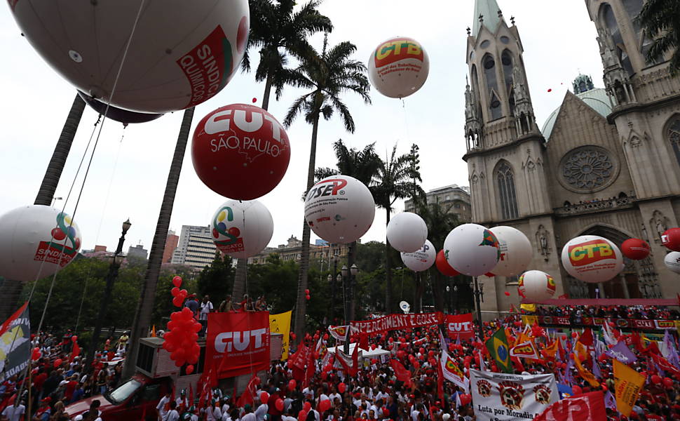
[[[533,421],[606,421],[604,394],[601,390],[562,399],[545,408]]]

